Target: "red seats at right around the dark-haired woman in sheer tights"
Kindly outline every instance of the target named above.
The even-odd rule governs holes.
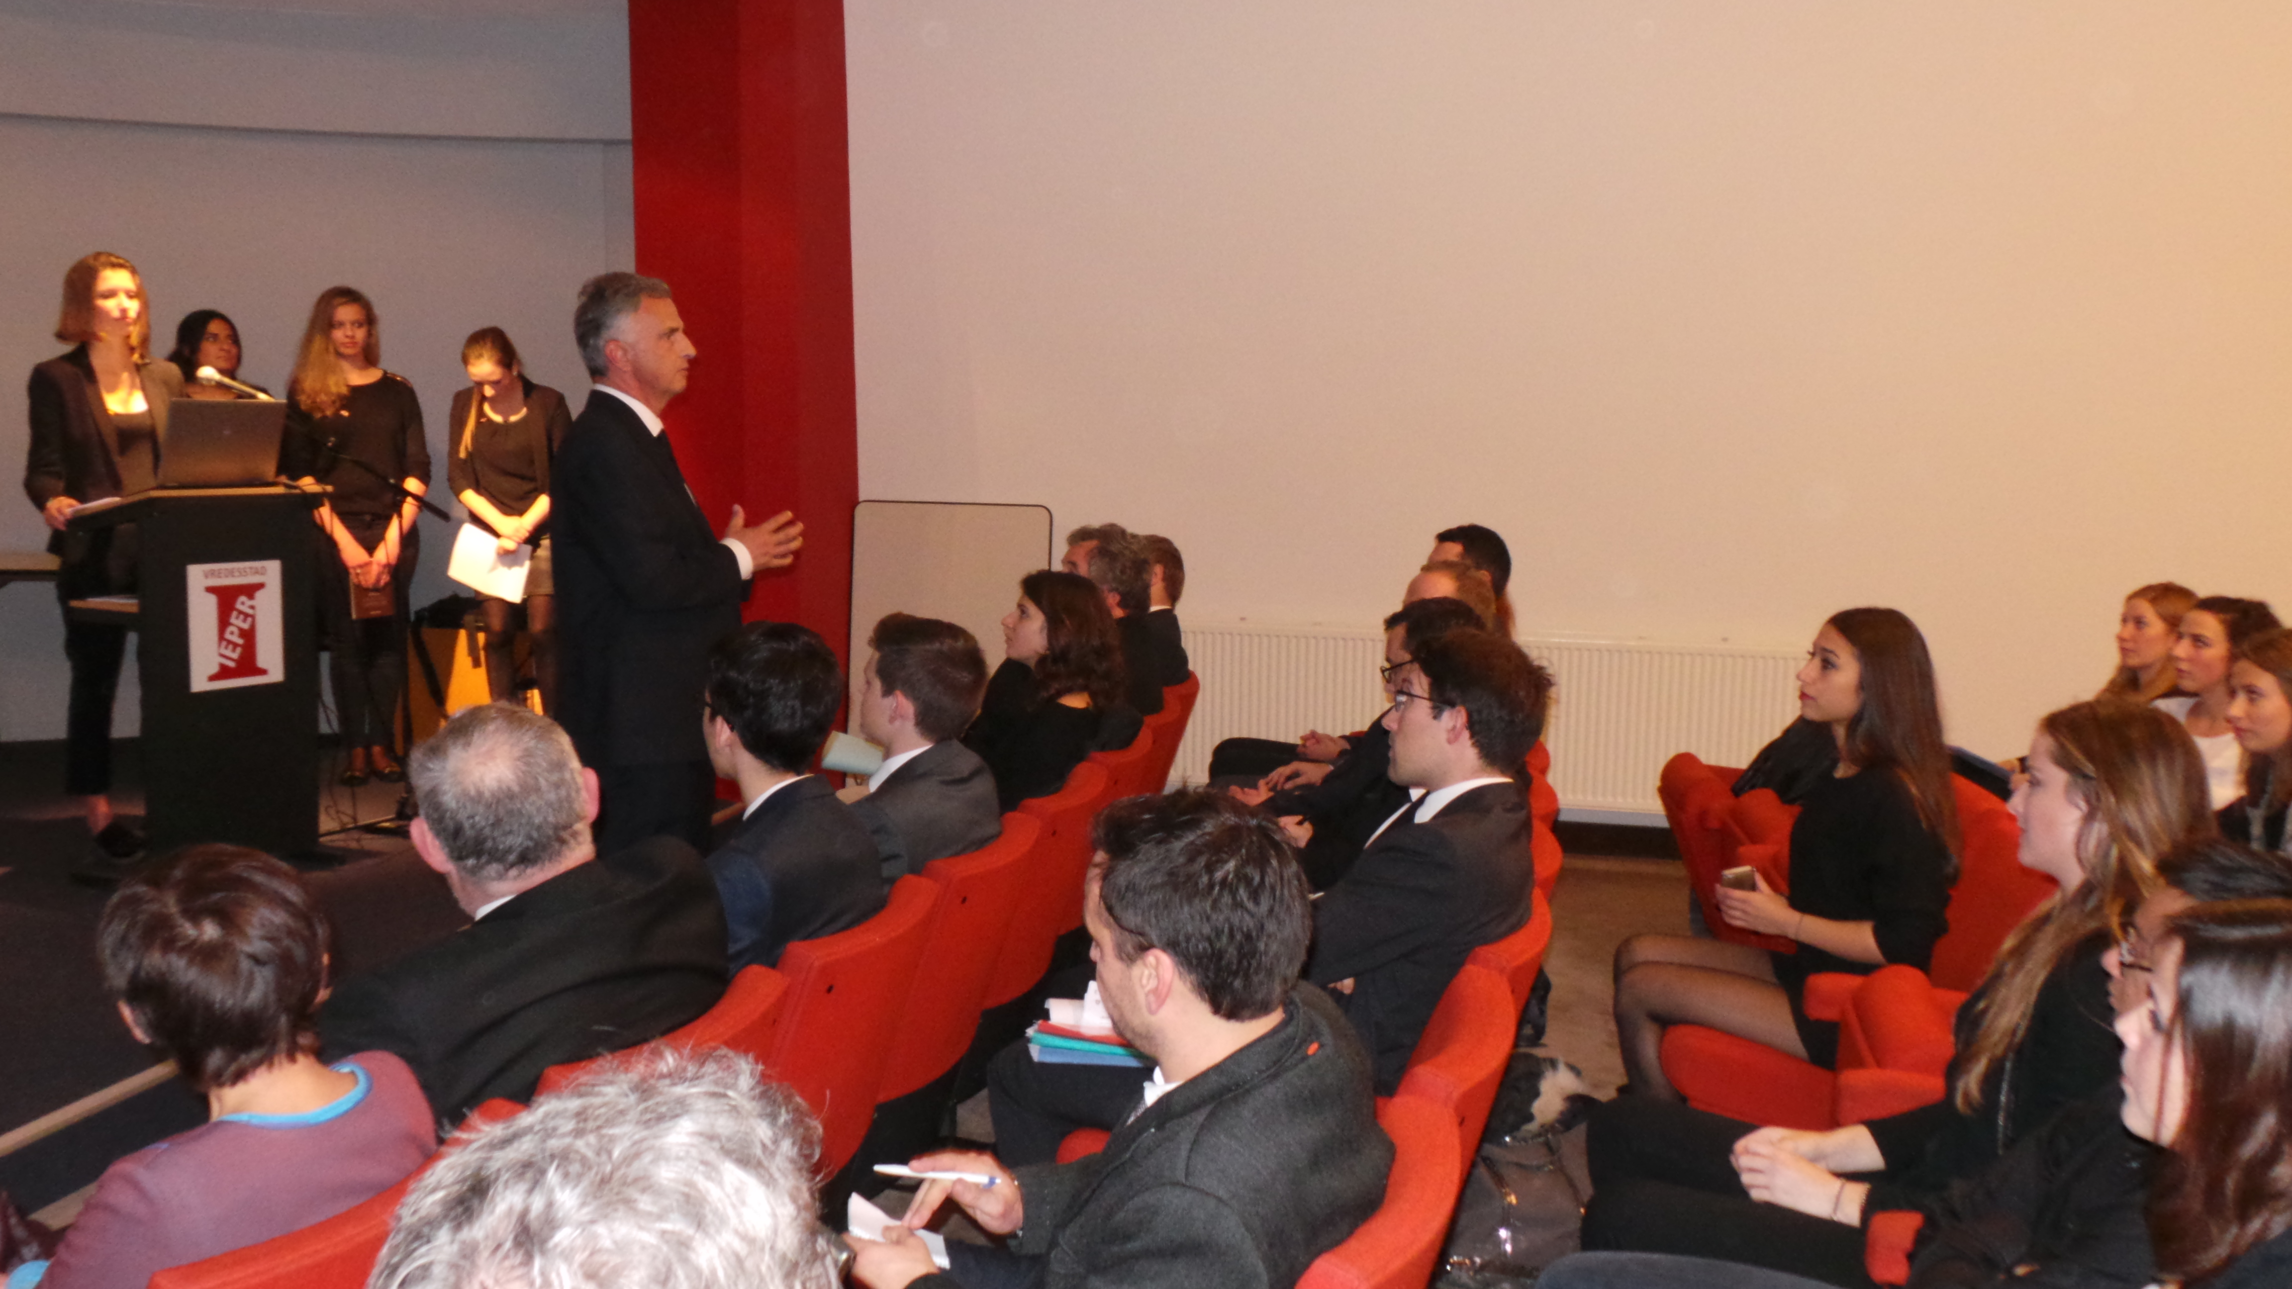
[[[1680,752],[1664,766],[1657,794],[1705,927],[1724,940],[1792,952],[1790,940],[1728,927],[1712,897],[1719,874],[1735,865],[1751,865],[1767,885],[1790,892],[1790,823],[1799,812],[1767,789],[1733,796],[1740,773]],[[1957,1007],[1989,972],[2015,924],[2056,885],[2022,867],[2022,830],[1996,796],[1957,775],[1950,787],[1964,844],[1948,904],[1950,929],[1934,945],[1932,970],[1886,966],[1866,977],[1806,982],[1806,1014],[1838,1021],[1836,1069],[1703,1025],[1673,1025],[1664,1032],[1664,1076],[1689,1106],[1753,1124],[1827,1131],[1941,1101]],[[1918,1213],[1873,1213],[1863,1257],[1875,1282],[1909,1280],[1918,1225]]]

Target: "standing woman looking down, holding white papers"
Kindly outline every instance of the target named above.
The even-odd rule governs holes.
[[[532,546],[525,564],[525,628],[532,633],[534,683],[543,711],[557,711],[557,587],[550,576],[550,456],[573,429],[566,399],[525,378],[518,346],[497,326],[461,344],[470,388],[454,394],[447,420],[447,486],[470,507],[470,523],[490,532],[504,553]],[[516,693],[518,606],[479,594],[486,615],[486,688],[495,702]]]

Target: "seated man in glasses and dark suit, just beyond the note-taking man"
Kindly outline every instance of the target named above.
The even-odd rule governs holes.
[[[1545,729],[1552,677],[1510,640],[1426,640],[1391,677],[1389,775],[1407,805],[1313,904],[1306,979],[1327,984],[1377,1073],[1400,1087],[1416,1037],[1471,950],[1529,920],[1529,796],[1513,778]]]

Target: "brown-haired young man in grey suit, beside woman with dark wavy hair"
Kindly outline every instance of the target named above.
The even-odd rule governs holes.
[[[988,658],[970,631],[912,612],[885,615],[866,647],[859,734],[887,755],[853,814],[892,883],[1002,837],[995,773],[960,743],[988,693]]]

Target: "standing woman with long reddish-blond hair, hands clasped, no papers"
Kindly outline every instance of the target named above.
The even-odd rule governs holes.
[[[390,720],[406,690],[406,585],[419,553],[415,500],[429,491],[422,404],[406,376],[383,372],[374,303],[351,287],[328,287],[312,305],[289,381],[280,472],[328,484],[316,511],[319,631],[332,656],[335,706],[351,761],[342,782],[369,775],[401,782]],[[385,612],[351,608],[353,589],[385,599]],[[378,594],[378,596],[376,596]]]

